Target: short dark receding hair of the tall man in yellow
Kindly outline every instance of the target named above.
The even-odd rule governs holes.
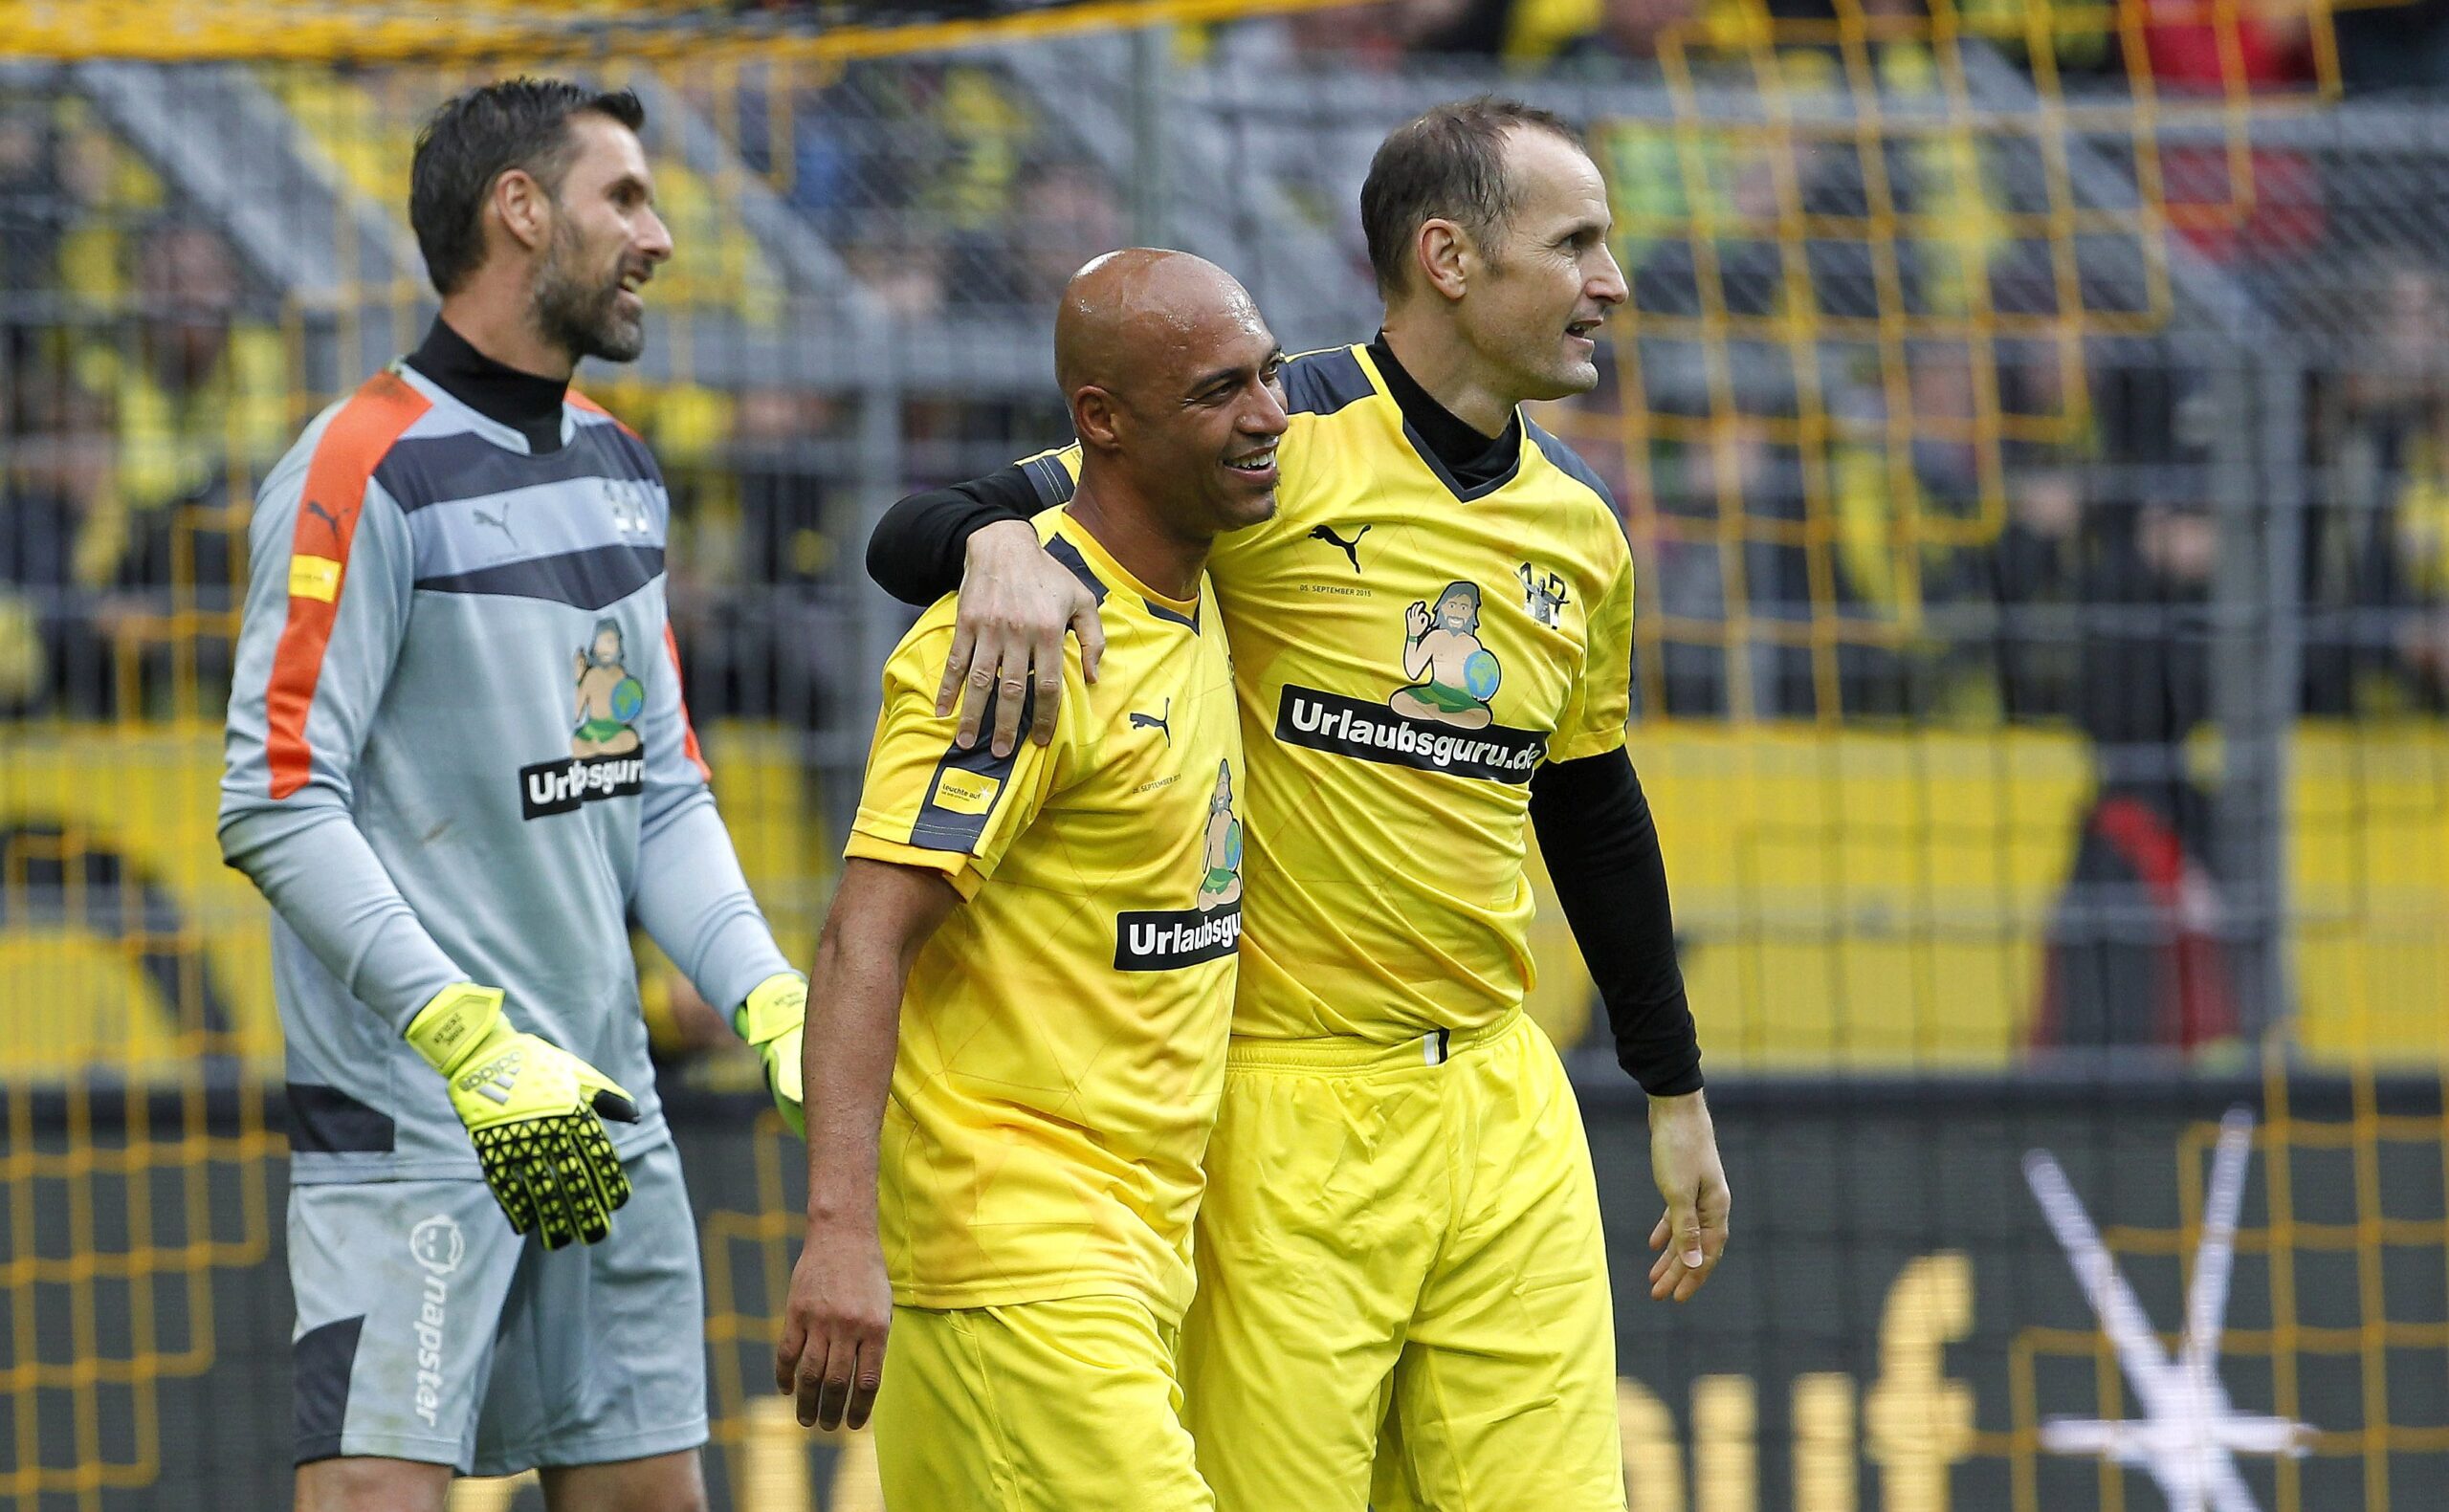
[[[1428,220],[1452,220],[1487,237],[1521,208],[1521,191],[1506,179],[1506,135],[1548,132],[1582,147],[1570,120],[1538,105],[1474,95],[1438,105],[1386,132],[1369,179],[1362,181],[1362,235],[1379,294],[1403,291],[1411,247]]]

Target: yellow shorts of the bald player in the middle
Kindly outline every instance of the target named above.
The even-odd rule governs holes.
[[[894,1512],[1212,1512],[1178,1336],[1134,1297],[896,1306],[877,1395]]]

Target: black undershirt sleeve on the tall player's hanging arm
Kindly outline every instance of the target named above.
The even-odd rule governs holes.
[[[1675,964],[1675,915],[1658,825],[1621,749],[1531,776],[1531,825],[1548,881],[1616,1037],[1616,1064],[1651,1096],[1700,1091],[1700,1037]]]

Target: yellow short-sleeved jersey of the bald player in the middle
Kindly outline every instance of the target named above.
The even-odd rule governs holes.
[[[953,746],[936,683],[955,599],[884,665],[847,854],[943,871],[884,1111],[884,1262],[906,1306],[1190,1299],[1242,935],[1242,732],[1202,580],[1166,599],[1063,509],[1038,536],[1097,595],[1051,746]],[[989,714],[992,719],[992,714]]]

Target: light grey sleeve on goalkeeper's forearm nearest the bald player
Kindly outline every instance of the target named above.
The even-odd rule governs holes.
[[[629,908],[671,964],[722,1010],[747,1001],[759,981],[791,969],[705,788],[639,829]]]

